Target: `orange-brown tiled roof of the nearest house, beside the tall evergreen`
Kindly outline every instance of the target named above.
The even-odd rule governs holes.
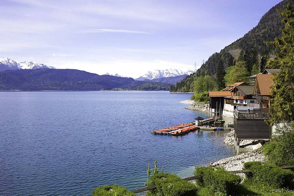
[[[271,87],[273,86],[273,77],[271,74],[258,74],[254,85],[254,92],[259,89],[261,95],[270,95]]]

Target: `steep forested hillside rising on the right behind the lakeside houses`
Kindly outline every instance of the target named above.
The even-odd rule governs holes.
[[[213,80],[216,80],[217,68],[220,62],[222,62],[224,69],[235,65],[235,62],[238,60],[238,55],[240,52],[245,54],[245,58],[250,59],[255,56],[257,52],[258,61],[250,59],[253,64],[260,64],[262,62],[261,57],[264,56],[265,62],[269,60],[270,54],[275,54],[274,48],[272,46],[265,45],[264,41],[273,41],[275,37],[280,36],[280,27],[283,27],[283,23],[280,20],[280,14],[277,9],[283,9],[283,6],[286,5],[289,0],[281,1],[279,4],[273,6],[267,13],[263,15],[260,19],[258,25],[246,33],[242,38],[236,40],[230,45],[226,46],[219,53],[216,52],[211,55],[208,60],[201,65],[201,67],[181,82],[178,82],[175,87],[171,87],[170,90],[174,92],[193,92],[194,91],[194,82],[200,76],[210,75]],[[243,55],[240,60],[243,59]],[[251,74],[251,69],[253,64],[250,62],[250,69],[248,74]],[[246,65],[247,66],[247,65]],[[264,65],[263,65],[264,66]],[[261,67],[259,69],[262,70]]]

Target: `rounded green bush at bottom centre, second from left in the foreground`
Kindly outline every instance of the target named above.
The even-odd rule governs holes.
[[[150,185],[154,190],[149,190],[147,195],[161,196],[195,196],[197,187],[193,183],[178,177],[174,174],[158,173],[151,177]]]

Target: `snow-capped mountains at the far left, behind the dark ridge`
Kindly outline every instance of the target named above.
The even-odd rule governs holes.
[[[56,69],[55,67],[48,66],[36,61],[24,61],[24,62],[17,63],[15,60],[12,60],[8,57],[0,58],[0,71],[19,70],[19,69],[35,70],[35,69],[42,69],[42,68]]]

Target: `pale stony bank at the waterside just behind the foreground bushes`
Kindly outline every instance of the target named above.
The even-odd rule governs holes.
[[[229,158],[224,158],[218,160],[214,163],[210,163],[209,166],[211,167],[223,167],[225,170],[228,171],[235,171],[235,170],[243,170],[243,165],[249,161],[265,161],[264,155],[262,151],[250,151],[240,154],[238,156],[233,156]],[[244,173],[238,174],[242,177],[245,176]]]

